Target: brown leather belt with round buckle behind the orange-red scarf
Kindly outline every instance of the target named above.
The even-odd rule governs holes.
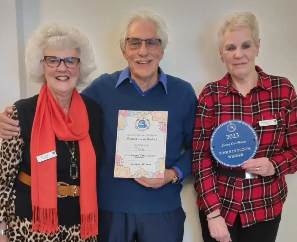
[[[18,179],[25,183],[28,186],[31,186],[31,176],[27,175],[24,172],[20,172]],[[63,181],[57,182],[57,197],[77,197],[80,194],[80,186],[69,185]]]

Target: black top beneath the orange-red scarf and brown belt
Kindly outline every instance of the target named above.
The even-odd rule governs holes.
[[[93,144],[97,170],[101,161],[102,147],[102,110],[99,105],[92,99],[81,96],[87,109],[89,116],[89,135]],[[15,103],[18,110],[18,119],[20,121],[20,132],[24,141],[22,153],[22,161],[20,162],[19,171],[31,175],[31,158],[30,158],[30,140],[35,110],[37,107],[38,95],[27,99],[19,100]],[[42,140],[41,142],[46,142]],[[66,182],[69,185],[80,185],[80,159],[78,141],[75,141],[75,158],[78,165],[78,178],[70,178],[69,165],[72,157],[65,141],[58,140],[56,137],[56,153],[57,153],[57,181]],[[68,142],[72,147],[72,142]],[[15,199],[15,215],[32,219],[32,204],[31,204],[31,187],[22,183],[16,178],[14,188],[16,190]],[[80,224],[80,204],[79,197],[64,197],[57,198],[58,201],[58,221],[59,225],[72,226]]]

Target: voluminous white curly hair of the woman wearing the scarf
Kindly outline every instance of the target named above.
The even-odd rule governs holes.
[[[77,85],[83,85],[86,78],[96,69],[95,57],[89,40],[78,29],[63,23],[50,23],[40,26],[28,41],[25,52],[26,72],[29,80],[44,83],[42,74],[43,50],[47,46],[73,48],[79,53],[80,75]]]

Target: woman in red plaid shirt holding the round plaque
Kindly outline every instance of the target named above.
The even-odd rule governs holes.
[[[296,92],[285,77],[255,66],[260,39],[252,13],[228,15],[218,45],[228,73],[203,88],[193,142],[203,240],[274,242],[287,197],[285,175],[297,169]],[[214,129],[232,119],[249,123],[259,138],[254,159],[238,168],[220,165],[209,147]],[[275,125],[259,125],[274,119]],[[258,177],[246,179],[246,171]]]

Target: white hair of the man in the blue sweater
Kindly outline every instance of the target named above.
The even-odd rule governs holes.
[[[148,21],[156,25],[158,30],[158,38],[161,39],[161,47],[163,50],[165,50],[168,44],[168,28],[166,26],[166,23],[160,16],[154,15],[149,11],[139,11],[130,16],[126,25],[120,33],[119,45],[121,47],[121,50],[125,49],[125,41],[128,36],[128,31],[131,24],[137,21]]]

